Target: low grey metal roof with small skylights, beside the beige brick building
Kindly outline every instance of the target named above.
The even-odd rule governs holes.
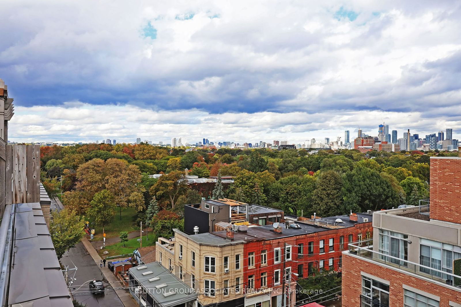
[[[138,280],[139,284],[148,290],[154,300],[163,307],[176,306],[197,299],[197,293],[194,289],[183,283],[182,280],[177,278],[158,262],[131,267],[128,272],[130,272],[130,274]],[[151,273],[142,275],[146,272]],[[158,277],[159,279],[150,281],[154,277]],[[157,289],[155,286],[160,284],[165,284],[165,286]],[[173,294],[168,295],[168,293]]]

